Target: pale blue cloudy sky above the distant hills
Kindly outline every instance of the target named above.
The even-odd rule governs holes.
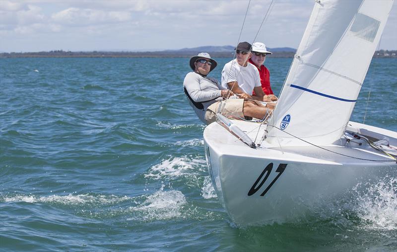
[[[381,1],[381,0],[376,0]],[[270,0],[252,0],[240,41],[253,42]],[[235,45],[249,1],[0,0],[0,52],[158,51]],[[297,48],[314,0],[274,0],[256,41]],[[397,1],[378,47],[397,50]]]

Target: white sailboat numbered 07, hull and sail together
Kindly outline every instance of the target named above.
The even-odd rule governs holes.
[[[397,132],[349,121],[392,5],[316,0],[267,123],[220,113],[205,128],[212,184],[235,224],[299,218],[397,176]]]

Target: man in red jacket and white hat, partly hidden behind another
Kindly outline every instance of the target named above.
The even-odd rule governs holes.
[[[269,70],[264,66],[267,54],[272,53],[267,51],[265,44],[261,42],[255,42],[252,44],[252,57],[249,62],[258,68],[264,93],[268,95],[271,100],[277,100],[277,96],[274,95],[273,90],[271,90],[270,87]]]

